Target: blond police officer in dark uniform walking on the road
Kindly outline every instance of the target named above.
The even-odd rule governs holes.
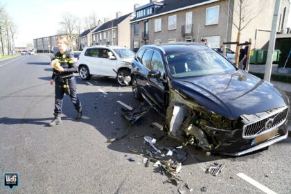
[[[82,118],[82,105],[77,97],[77,84],[76,78],[73,76],[73,72],[77,71],[76,62],[73,59],[73,53],[68,49],[67,37],[58,37],[58,53],[51,62],[53,67],[53,75],[51,76],[50,84],[53,85],[55,82],[55,118],[49,123],[54,126],[61,124],[60,114],[62,113],[62,98],[64,94],[70,96],[71,101],[76,108],[78,114],[76,119]]]

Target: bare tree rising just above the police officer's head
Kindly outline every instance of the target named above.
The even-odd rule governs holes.
[[[62,21],[60,22],[60,25],[62,26],[61,31],[66,32],[66,35],[69,38],[69,47],[71,48],[71,50],[73,49],[73,39],[76,38],[76,23],[76,15],[73,15],[69,12],[64,12],[64,14],[62,15]]]

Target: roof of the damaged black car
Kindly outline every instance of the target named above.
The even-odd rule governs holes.
[[[156,48],[161,50],[165,55],[172,53],[183,53],[184,51],[212,51],[209,46],[200,44],[198,42],[179,42],[179,43],[168,43],[168,44],[157,44],[157,45],[145,45],[142,48]]]

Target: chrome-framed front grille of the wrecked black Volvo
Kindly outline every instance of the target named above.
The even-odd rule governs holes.
[[[243,138],[251,139],[280,127],[287,118],[288,107],[272,109],[254,115],[243,115]],[[254,119],[254,120],[252,120]]]

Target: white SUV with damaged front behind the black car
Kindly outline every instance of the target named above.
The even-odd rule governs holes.
[[[116,77],[119,85],[125,85],[130,78],[130,67],[134,52],[119,46],[90,46],[83,49],[78,60],[80,78],[91,76]]]

